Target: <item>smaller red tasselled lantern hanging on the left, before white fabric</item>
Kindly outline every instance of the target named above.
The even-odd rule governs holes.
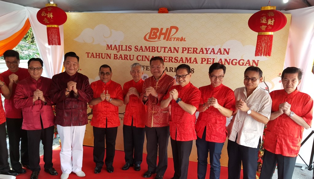
[[[46,4],[37,12],[37,20],[47,26],[49,45],[61,45],[59,25],[67,21],[67,14],[57,4]]]

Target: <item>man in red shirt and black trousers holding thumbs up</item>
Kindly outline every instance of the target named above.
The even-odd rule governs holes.
[[[105,138],[105,164],[107,171],[109,173],[113,172],[116,136],[120,125],[118,107],[123,105],[123,95],[121,85],[112,81],[111,77],[111,67],[104,64],[99,68],[100,80],[90,84],[94,91],[93,99],[89,102],[89,105],[93,105],[93,117],[90,125],[93,126],[94,133],[95,173],[100,173],[104,165]]]

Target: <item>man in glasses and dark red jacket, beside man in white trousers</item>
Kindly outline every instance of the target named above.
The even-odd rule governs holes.
[[[58,175],[52,167],[52,142],[55,115],[52,111],[53,103],[48,96],[51,84],[50,78],[42,77],[43,61],[32,58],[28,61],[30,77],[20,81],[16,86],[14,106],[22,108],[22,129],[27,131],[28,150],[30,156],[31,179],[37,179],[40,171],[39,144],[44,145],[45,171],[51,175]]]

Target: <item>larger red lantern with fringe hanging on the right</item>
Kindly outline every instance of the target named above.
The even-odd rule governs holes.
[[[271,56],[273,46],[273,32],[287,23],[286,16],[276,10],[276,6],[265,6],[253,14],[248,25],[251,30],[258,32],[255,56]]]

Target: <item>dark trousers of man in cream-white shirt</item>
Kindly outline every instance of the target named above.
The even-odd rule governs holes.
[[[259,140],[257,148],[246,147],[228,140],[228,178],[240,179],[241,162],[243,166],[243,179],[255,179],[257,171],[258,149],[261,140]]]

